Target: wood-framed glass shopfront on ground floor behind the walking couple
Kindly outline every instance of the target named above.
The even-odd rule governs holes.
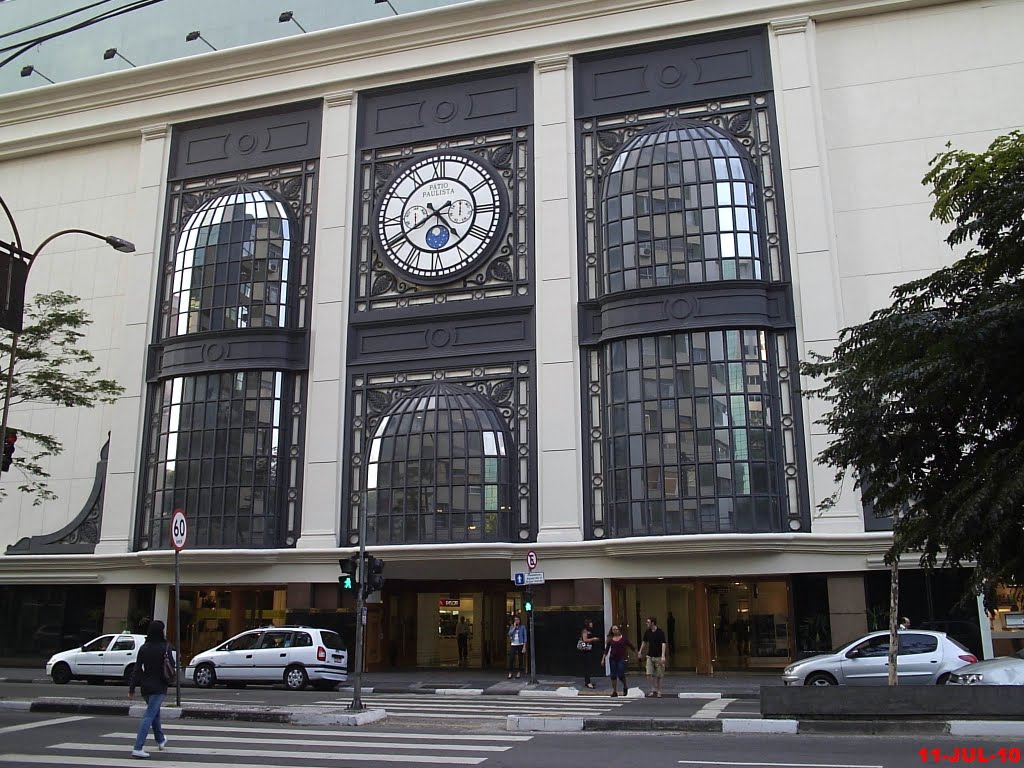
[[[787,580],[617,583],[611,615],[637,647],[653,615],[669,642],[670,670],[780,669],[793,659]]]

